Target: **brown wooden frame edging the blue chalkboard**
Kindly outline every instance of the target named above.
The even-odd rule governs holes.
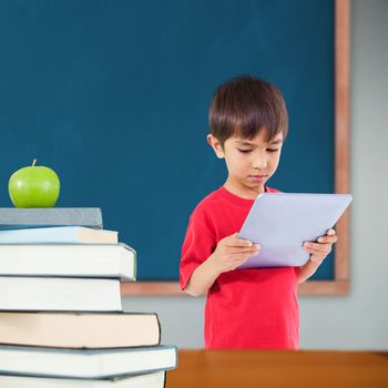
[[[349,193],[350,184],[350,0],[335,0],[335,193]],[[304,296],[344,296],[350,290],[348,210],[336,225],[338,243],[333,280],[299,284]],[[136,282],[121,285],[122,296],[186,296],[177,282]]]

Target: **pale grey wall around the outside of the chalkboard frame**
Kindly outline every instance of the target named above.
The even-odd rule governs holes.
[[[351,18],[351,290],[300,297],[305,349],[388,349],[388,1],[353,1]],[[136,297],[124,306],[157,312],[163,343],[202,347],[203,298]]]

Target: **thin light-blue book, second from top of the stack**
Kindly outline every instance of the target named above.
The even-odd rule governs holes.
[[[116,244],[118,234],[84,226],[32,227],[0,231],[0,244]]]

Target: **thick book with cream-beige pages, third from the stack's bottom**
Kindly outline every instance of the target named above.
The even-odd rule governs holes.
[[[0,313],[0,344],[65,348],[155,346],[154,313]]]

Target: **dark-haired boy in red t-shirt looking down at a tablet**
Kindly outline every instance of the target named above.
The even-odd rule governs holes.
[[[225,159],[225,184],[193,211],[182,247],[180,283],[192,296],[207,293],[206,348],[298,349],[297,285],[310,277],[337,241],[335,231],[305,243],[303,267],[236,269],[261,246],[238,238],[255,197],[280,159],[288,118],[278,89],[241,76],[221,85],[210,108],[207,142]]]

